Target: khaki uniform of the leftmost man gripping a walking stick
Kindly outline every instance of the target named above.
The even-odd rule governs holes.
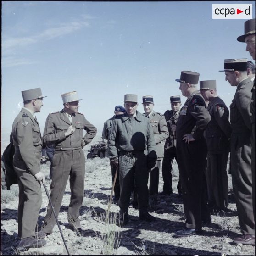
[[[42,137],[39,123],[25,108],[12,124],[12,140],[13,167],[19,184],[18,237],[23,239],[35,235],[42,203],[41,185],[34,177],[40,172]]]

